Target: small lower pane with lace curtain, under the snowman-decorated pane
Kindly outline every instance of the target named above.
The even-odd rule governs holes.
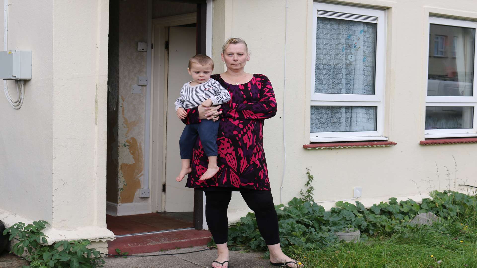
[[[377,107],[311,106],[311,132],[376,131]]]

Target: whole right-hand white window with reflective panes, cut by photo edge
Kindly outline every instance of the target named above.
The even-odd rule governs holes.
[[[474,21],[429,17],[425,138],[477,136],[476,28]],[[453,37],[452,55],[439,54],[450,45],[446,36]]]

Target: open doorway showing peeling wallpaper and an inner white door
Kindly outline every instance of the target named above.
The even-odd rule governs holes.
[[[203,193],[175,181],[184,125],[174,102],[190,81],[189,57],[205,54],[206,10],[206,0],[110,2],[106,224],[117,236],[203,227]],[[145,14],[148,32],[134,37],[144,27],[132,29],[132,21]],[[147,56],[135,46],[145,41]],[[147,76],[149,85],[133,95],[137,76]]]

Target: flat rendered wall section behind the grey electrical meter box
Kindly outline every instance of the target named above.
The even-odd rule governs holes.
[[[5,222],[9,222],[5,219],[8,215],[52,222],[52,14],[52,0],[15,1],[9,6],[8,49],[33,52],[33,79],[25,83],[20,110],[7,102],[1,82],[0,220]],[[3,34],[0,40],[3,43]],[[8,86],[15,98],[15,82],[8,82]]]

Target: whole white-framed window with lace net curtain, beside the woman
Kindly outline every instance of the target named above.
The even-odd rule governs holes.
[[[310,141],[387,140],[385,11],[313,7]]]

